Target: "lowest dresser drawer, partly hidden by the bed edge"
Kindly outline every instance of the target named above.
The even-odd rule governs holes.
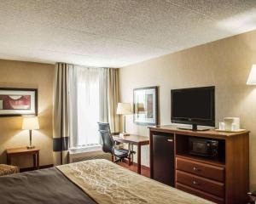
[[[223,198],[220,198],[220,197],[215,196],[215,195],[208,194],[208,193],[206,193],[204,191],[201,191],[201,190],[196,190],[196,189],[191,188],[187,185],[176,183],[176,188],[178,190],[183,190],[183,191],[185,191],[189,194],[193,194],[193,195],[199,196],[201,198],[204,198],[208,201],[213,201],[213,202],[216,202],[218,204],[224,204],[224,199]]]

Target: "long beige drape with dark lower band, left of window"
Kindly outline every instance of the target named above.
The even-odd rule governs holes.
[[[69,146],[69,69],[73,65],[57,63],[55,65],[54,88],[54,119],[53,119],[53,150],[54,164],[67,163],[67,150]]]

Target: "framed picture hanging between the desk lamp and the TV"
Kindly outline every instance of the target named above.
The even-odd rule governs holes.
[[[138,125],[158,125],[158,87],[133,89],[133,113],[133,122]]]

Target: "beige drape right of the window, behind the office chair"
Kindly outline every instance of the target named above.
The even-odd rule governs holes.
[[[112,133],[119,133],[119,69],[108,68],[108,122]]]

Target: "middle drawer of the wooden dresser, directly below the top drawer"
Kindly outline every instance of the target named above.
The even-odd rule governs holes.
[[[177,183],[185,184],[197,190],[202,190],[218,197],[224,197],[224,184],[190,173],[176,171]]]

